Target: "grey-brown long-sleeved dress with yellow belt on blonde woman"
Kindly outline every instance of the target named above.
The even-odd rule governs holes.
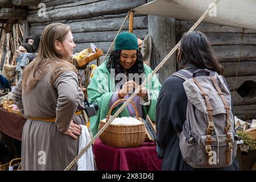
[[[51,85],[51,73],[36,83],[30,92],[22,93],[19,81],[14,100],[26,118],[56,118],[55,122],[27,119],[22,134],[22,170],[64,170],[77,156],[79,136],[63,134],[69,124],[84,125],[82,115],[84,94],[79,88],[77,73],[65,71]],[[76,170],[75,164],[71,170]]]

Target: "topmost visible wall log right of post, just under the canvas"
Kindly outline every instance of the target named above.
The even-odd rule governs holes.
[[[187,32],[194,24],[195,22],[192,22],[192,21],[176,20],[176,32]],[[243,28],[222,26],[220,24],[200,23],[199,26],[196,28],[196,30],[199,30],[201,32],[242,33]],[[245,33],[256,33],[256,30],[246,28]]]

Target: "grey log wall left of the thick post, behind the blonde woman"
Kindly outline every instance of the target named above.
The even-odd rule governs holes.
[[[106,53],[121,27],[127,12],[146,3],[146,0],[42,0],[46,16],[38,16],[38,10],[28,11],[30,34],[41,35],[49,23],[60,22],[72,28],[75,52],[90,47],[90,43]],[[129,29],[129,19],[123,30]],[[147,16],[135,15],[134,34],[144,39],[148,32]],[[103,59],[104,56],[101,57]]]

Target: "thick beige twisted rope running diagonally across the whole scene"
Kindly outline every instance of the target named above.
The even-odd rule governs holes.
[[[201,18],[199,20],[197,20],[197,22],[193,25],[193,27],[191,27],[191,29],[188,32],[191,32],[193,30],[195,30],[195,28],[202,22],[202,20],[205,18],[205,16],[207,16],[207,14],[210,12],[210,10],[213,9],[213,7],[215,5],[217,5],[217,3],[220,0],[216,0],[212,6],[209,7],[209,9],[207,11],[205,11],[205,13],[201,16]],[[181,42],[181,41],[180,41]],[[150,80],[150,78],[152,78],[154,76],[154,74],[163,66],[164,63],[166,63],[166,61],[172,56],[172,54],[177,50],[177,48],[179,48],[180,46],[180,42],[176,44],[176,46],[172,49],[172,51],[170,53],[168,53],[168,55],[162,60],[162,62],[154,69],[154,71],[146,78],[146,80],[143,81],[143,83],[139,86],[139,88],[137,90],[135,90],[135,92],[133,94],[131,94],[131,97],[129,97],[125,103],[117,110],[117,112],[113,115],[113,117],[110,118],[110,120],[104,125],[104,127],[102,127],[102,129],[100,131],[98,131],[98,133],[93,137],[93,139],[86,144],[86,146],[84,148],[82,148],[81,152],[79,155],[76,156],[76,158],[65,168],[65,171],[68,171],[69,169],[71,169],[71,167],[77,162],[77,160],[79,160],[79,158],[81,158],[81,156],[85,153],[86,150],[88,150],[88,148],[92,145],[92,143],[94,143],[94,141],[96,140],[96,138],[98,138],[102,132],[106,129],[106,127],[108,127],[110,125],[110,123],[118,116],[119,113],[121,113],[121,111],[123,109],[125,109],[125,107],[129,104],[129,102],[137,95],[137,93],[139,93],[139,90],[142,89],[142,87],[146,84],[146,82],[148,80]]]

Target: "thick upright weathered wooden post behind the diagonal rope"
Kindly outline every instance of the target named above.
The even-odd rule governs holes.
[[[154,69],[176,44],[175,19],[148,15],[148,32],[152,38],[151,67]],[[159,81],[176,72],[175,54],[158,71]]]

